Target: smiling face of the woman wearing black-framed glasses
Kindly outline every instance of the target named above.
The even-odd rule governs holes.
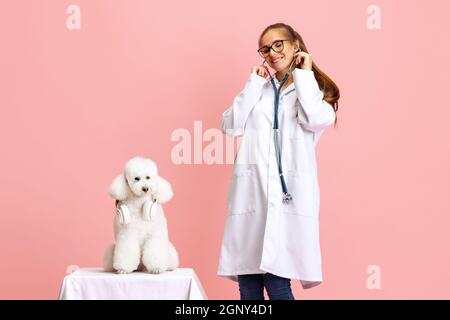
[[[269,64],[269,66],[277,72],[283,71],[289,67],[292,59],[294,58],[294,54],[299,47],[298,43],[291,43],[289,41],[289,38],[286,36],[284,29],[269,30],[261,38],[260,48],[265,47],[265,50],[267,50],[270,46],[272,46],[272,49],[268,52],[268,56],[265,58],[265,60],[266,63]]]

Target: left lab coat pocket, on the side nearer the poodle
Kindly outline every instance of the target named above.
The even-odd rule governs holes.
[[[233,172],[228,188],[228,215],[252,214],[256,211],[256,181],[252,169],[238,169]]]

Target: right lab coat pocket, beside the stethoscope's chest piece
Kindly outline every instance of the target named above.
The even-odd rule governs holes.
[[[310,174],[304,171],[288,170],[285,177],[292,200],[283,204],[283,212],[317,218],[314,210],[314,189]]]

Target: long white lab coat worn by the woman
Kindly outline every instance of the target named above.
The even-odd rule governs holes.
[[[315,147],[335,112],[323,100],[313,71],[296,68],[293,77],[278,109],[281,161],[292,195],[288,204],[282,202],[274,149],[270,81],[251,74],[222,115],[222,131],[241,139],[217,274],[237,281],[239,274],[270,272],[300,280],[307,289],[322,282]]]

